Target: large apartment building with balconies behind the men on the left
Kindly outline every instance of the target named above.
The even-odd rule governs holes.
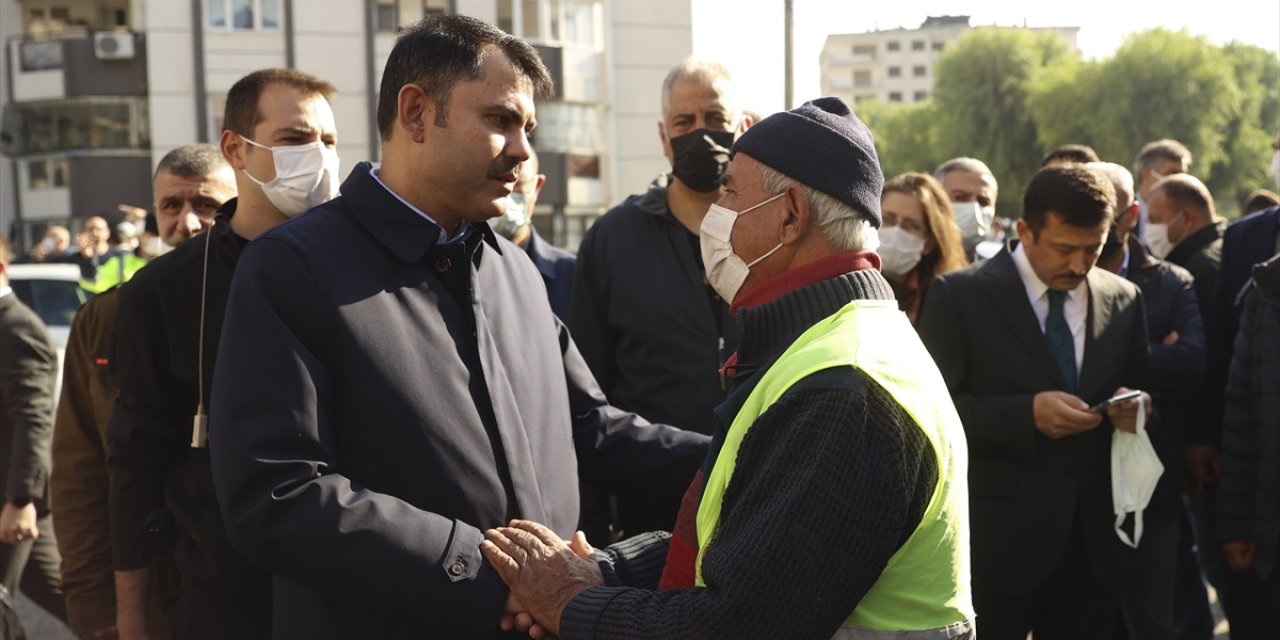
[[[0,0],[0,232],[150,209],[170,148],[216,142],[227,91],[289,67],[338,87],[343,173],[376,159],[378,88],[401,26],[472,15],[526,38],[556,79],[538,101],[535,224],[586,225],[666,169],[658,87],[692,51],[691,0]]]

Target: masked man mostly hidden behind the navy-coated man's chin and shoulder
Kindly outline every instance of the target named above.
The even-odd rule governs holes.
[[[529,259],[534,261],[538,273],[543,274],[543,284],[547,285],[547,300],[552,303],[552,311],[562,323],[568,321],[568,298],[573,285],[573,264],[577,257],[556,244],[550,244],[534,229],[534,206],[538,205],[538,195],[547,183],[547,175],[538,173],[538,154],[529,150],[529,160],[520,164],[520,179],[507,202],[507,210],[500,216],[489,220],[493,230],[503,238],[515,242],[517,247],[525,250]]]

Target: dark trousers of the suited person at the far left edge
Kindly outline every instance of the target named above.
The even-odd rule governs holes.
[[[0,576],[17,598],[22,593],[55,618],[67,622],[63,600],[63,557],[54,538],[54,521],[46,513],[36,520],[40,538],[18,544],[0,544]]]

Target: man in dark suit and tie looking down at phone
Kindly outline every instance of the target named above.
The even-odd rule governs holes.
[[[1110,443],[1148,376],[1138,288],[1093,269],[1115,195],[1098,172],[1042,169],[1019,244],[933,283],[920,337],[969,438],[974,607],[987,639],[1110,637],[1133,559],[1115,531]]]

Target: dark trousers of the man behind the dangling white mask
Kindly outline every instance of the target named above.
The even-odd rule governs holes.
[[[1178,567],[1179,513],[1143,518],[1133,576],[1120,588],[1120,611],[1130,640],[1174,640],[1174,576]]]

